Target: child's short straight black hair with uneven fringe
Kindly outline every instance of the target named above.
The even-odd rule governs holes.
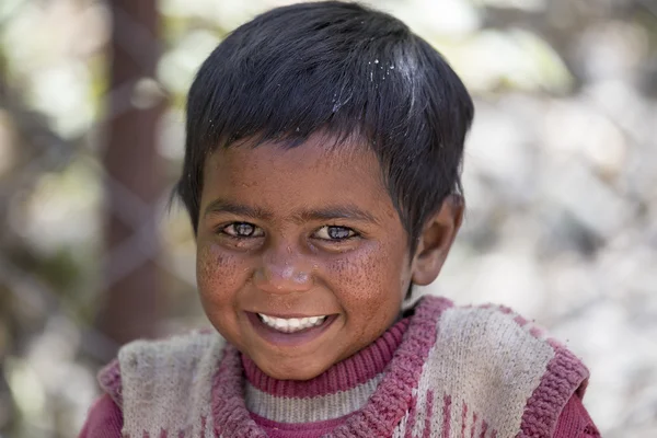
[[[276,8],[228,35],[196,74],[176,191],[197,232],[203,168],[217,148],[357,136],[378,157],[414,251],[429,216],[461,193],[473,116],[457,73],[400,20],[341,1]]]

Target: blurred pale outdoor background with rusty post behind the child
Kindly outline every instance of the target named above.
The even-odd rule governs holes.
[[[131,338],[207,325],[185,93],[276,0],[0,0],[0,437],[72,437]],[[538,320],[607,438],[657,437],[657,1],[388,0],[476,101],[427,292]],[[170,208],[171,207],[171,208]]]

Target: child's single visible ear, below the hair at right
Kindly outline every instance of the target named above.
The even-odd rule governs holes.
[[[448,196],[440,210],[425,223],[413,256],[412,281],[426,286],[434,281],[457,237],[463,220],[464,203],[458,195]]]

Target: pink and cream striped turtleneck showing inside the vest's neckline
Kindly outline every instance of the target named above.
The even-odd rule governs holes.
[[[330,433],[367,404],[410,322],[401,320],[370,346],[308,381],[270,378],[240,355],[251,417],[270,438],[319,438]]]

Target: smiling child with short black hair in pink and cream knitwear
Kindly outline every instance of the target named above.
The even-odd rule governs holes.
[[[283,7],[234,31],[189,91],[178,194],[216,331],[135,342],[81,437],[596,437],[588,371],[497,307],[414,285],[463,215],[473,118],[396,19]]]

